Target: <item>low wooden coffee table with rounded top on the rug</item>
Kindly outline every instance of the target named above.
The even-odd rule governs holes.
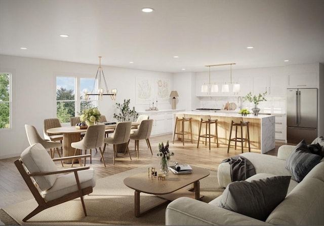
[[[140,193],[147,193],[164,198],[168,201],[175,200],[179,197],[191,197],[199,200],[201,197],[199,190],[199,180],[207,177],[210,173],[208,170],[191,167],[192,173],[190,174],[173,174],[171,171],[166,175],[165,180],[158,179],[157,176],[152,178],[148,176],[147,169],[143,173],[135,174],[124,179],[124,184],[131,189],[135,190],[135,216],[139,217],[146,212],[155,209],[165,203],[154,206],[151,209],[140,213]],[[158,169],[157,167],[155,170]],[[144,171],[144,170],[143,170]],[[158,171],[158,170],[157,170]],[[157,172],[159,173],[159,172]],[[193,184],[189,190],[183,189],[184,187]]]

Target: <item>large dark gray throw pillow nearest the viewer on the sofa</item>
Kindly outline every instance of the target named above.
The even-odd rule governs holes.
[[[251,182],[229,183],[219,207],[265,221],[274,208],[285,199],[291,176],[274,176]]]

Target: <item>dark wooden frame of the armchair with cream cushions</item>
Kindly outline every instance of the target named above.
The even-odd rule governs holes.
[[[53,161],[61,161],[62,159],[75,159],[75,158],[80,159],[80,158],[86,158],[86,157],[90,157],[90,155],[63,157],[63,158],[53,159]],[[22,221],[26,222],[29,218],[33,217],[37,213],[39,213],[39,212],[41,212],[41,211],[43,211],[43,210],[45,210],[47,208],[50,208],[52,206],[56,206],[58,204],[61,204],[61,203],[64,203],[64,202],[67,202],[67,201],[70,201],[70,200],[73,200],[73,199],[78,198],[78,197],[80,197],[80,199],[81,199],[83,210],[85,212],[85,216],[87,216],[87,211],[86,211],[86,206],[85,206],[83,196],[89,195],[90,193],[92,193],[93,188],[92,188],[92,186],[89,186],[89,187],[86,187],[84,189],[81,189],[77,171],[87,170],[87,169],[90,168],[89,166],[75,167],[75,168],[69,168],[69,169],[61,169],[61,170],[57,170],[57,171],[29,173],[28,169],[26,169],[24,167],[21,158],[17,159],[14,163],[15,163],[18,171],[20,172],[22,178],[26,182],[30,192],[32,193],[32,195],[34,196],[35,200],[38,203],[38,206],[36,207],[36,209],[34,209],[25,218],[23,218]],[[60,198],[57,198],[57,199],[54,199],[54,200],[51,200],[51,201],[48,201],[48,202],[46,202],[45,199],[41,196],[41,194],[39,193],[39,191],[37,189],[37,184],[34,184],[32,178],[31,178],[31,177],[34,177],[34,176],[44,176],[44,175],[59,174],[59,173],[71,173],[71,172],[74,173],[76,184],[77,184],[77,187],[78,187],[78,191],[66,194],[66,195],[64,195],[64,196],[62,196]]]

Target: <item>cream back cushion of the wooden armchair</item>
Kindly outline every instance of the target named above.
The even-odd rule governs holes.
[[[41,152],[45,150],[45,152]],[[50,155],[47,153],[44,146],[40,143],[35,143],[27,147],[20,155],[26,168],[30,173],[39,173],[46,171],[55,171],[57,167]],[[39,189],[46,191],[50,189],[56,181],[57,174],[46,176],[35,176],[34,180],[38,184]]]

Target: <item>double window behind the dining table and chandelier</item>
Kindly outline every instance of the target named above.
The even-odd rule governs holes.
[[[91,90],[94,82],[94,79],[87,78],[56,77],[56,116],[61,123],[68,123],[82,110],[97,106],[97,100],[84,100],[82,92],[85,88]]]

